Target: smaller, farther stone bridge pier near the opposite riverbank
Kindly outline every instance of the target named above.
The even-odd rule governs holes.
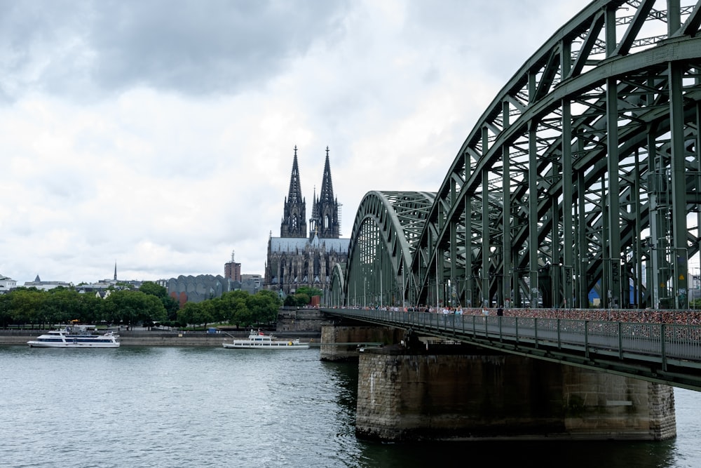
[[[322,361],[348,361],[358,359],[360,343],[396,343],[404,332],[398,328],[372,325],[322,325]]]

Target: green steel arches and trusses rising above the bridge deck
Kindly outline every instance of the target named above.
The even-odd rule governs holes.
[[[701,1],[599,0],[479,117],[435,194],[369,192],[346,306],[688,307]],[[361,289],[362,288],[362,289]]]

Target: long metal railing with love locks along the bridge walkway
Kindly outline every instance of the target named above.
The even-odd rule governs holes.
[[[416,328],[458,340],[490,340],[534,348],[569,349],[619,359],[662,361],[701,368],[701,326],[538,317],[435,314],[377,309],[328,312],[375,323]]]

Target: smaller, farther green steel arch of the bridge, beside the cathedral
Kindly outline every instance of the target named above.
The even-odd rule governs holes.
[[[348,246],[346,306],[404,305],[405,291],[417,290],[407,268],[434,198],[430,192],[365,194]]]

